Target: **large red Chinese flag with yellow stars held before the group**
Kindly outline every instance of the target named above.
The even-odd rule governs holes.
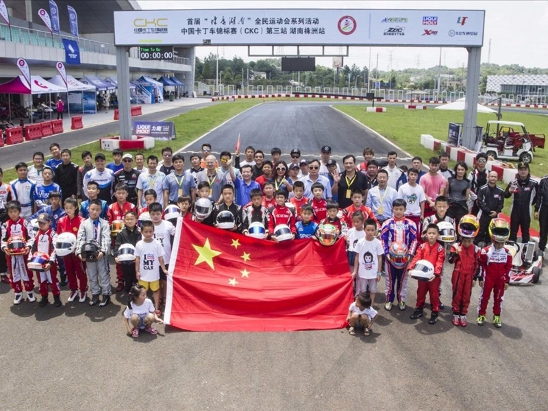
[[[173,250],[169,325],[256,332],[346,324],[352,281],[343,240],[277,244],[179,219]]]

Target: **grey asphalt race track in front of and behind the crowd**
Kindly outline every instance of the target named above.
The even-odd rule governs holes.
[[[377,144],[379,155],[389,149],[384,140],[376,140],[327,105],[265,104],[204,140],[212,142],[214,151],[225,147],[232,151],[238,132],[244,146],[278,146],[284,153],[300,147],[303,153],[319,155],[324,144],[332,145],[334,154],[361,153],[370,144]],[[286,142],[288,137],[291,140]],[[157,336],[134,339],[125,335],[121,318],[125,293],[99,308],[67,303],[69,290],[64,287],[61,308],[53,304],[38,308],[38,303],[27,301],[12,306],[12,290],[0,283],[1,408],[548,409],[544,278],[534,286],[510,287],[501,329],[490,322],[484,327],[475,324],[476,286],[469,325],[462,328],[451,324],[451,270],[446,264],[442,295],[446,308],[436,325],[427,323],[428,304],[425,317],[409,318],[416,301],[413,279],[408,309],[386,312],[379,295],[384,290],[382,279],[374,304],[380,319],[369,337],[360,335],[361,329],[350,336],[347,329],[208,333],[159,325]]]

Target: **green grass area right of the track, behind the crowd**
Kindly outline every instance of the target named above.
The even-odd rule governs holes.
[[[436,154],[432,150],[421,145],[421,134],[430,134],[438,140],[447,141],[447,129],[449,123],[462,123],[464,114],[457,111],[443,110],[405,110],[403,107],[387,106],[384,113],[367,113],[362,105],[334,105],[341,112],[345,112],[360,123],[382,134],[395,145],[407,151],[411,155],[420,155],[424,162]],[[487,125],[488,120],[496,120],[495,114],[477,114],[478,125]],[[505,121],[519,121],[525,124],[527,131],[531,133],[547,133],[548,121],[543,114],[529,114],[519,112],[503,113]],[[455,162],[451,162],[451,166]],[[536,149],[534,160],[530,164],[532,175],[542,177],[546,174],[548,164],[547,149]],[[514,165],[516,163],[514,162]],[[506,189],[506,184],[501,183],[501,188]],[[512,199],[505,199],[502,212],[510,215]],[[538,221],[533,220],[531,227],[538,230]]]

